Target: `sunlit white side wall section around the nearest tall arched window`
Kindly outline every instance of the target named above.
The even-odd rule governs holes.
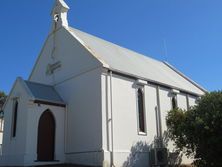
[[[148,165],[148,144],[152,141],[155,125],[154,116],[156,99],[148,99],[155,88],[145,86],[145,103],[147,135],[139,135],[137,126],[136,88],[134,80],[113,75],[112,77],[112,112],[113,112],[113,141],[111,126],[110,77],[102,75],[102,118],[103,118],[103,149],[104,165],[110,164],[110,155],[114,151],[114,165]],[[149,104],[149,105],[148,105]],[[150,128],[148,128],[150,126]],[[151,128],[152,127],[152,128]],[[136,157],[134,157],[135,155]],[[134,159],[133,159],[134,157]]]

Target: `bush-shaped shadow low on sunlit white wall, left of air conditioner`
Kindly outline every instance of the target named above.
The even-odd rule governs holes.
[[[149,145],[139,141],[131,147],[131,153],[123,163],[123,167],[147,166],[149,161]]]

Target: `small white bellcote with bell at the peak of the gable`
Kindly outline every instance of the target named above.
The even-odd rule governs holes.
[[[53,20],[52,31],[60,27],[68,27],[67,13],[69,6],[63,0],[56,0],[52,9],[51,16]]]

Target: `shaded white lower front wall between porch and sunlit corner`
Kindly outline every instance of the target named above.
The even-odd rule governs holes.
[[[55,86],[67,104],[66,159],[69,163],[101,165],[101,69]]]

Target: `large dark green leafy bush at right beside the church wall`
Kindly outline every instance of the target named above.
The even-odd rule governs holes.
[[[222,91],[207,93],[188,111],[169,111],[166,121],[169,137],[196,166],[222,166]]]

